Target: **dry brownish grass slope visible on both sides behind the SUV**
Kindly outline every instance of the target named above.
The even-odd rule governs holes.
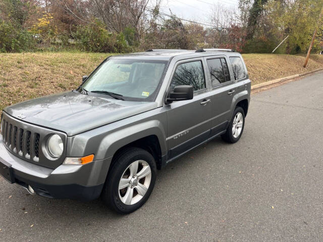
[[[81,84],[105,53],[8,53],[0,54],[0,113],[8,105],[30,98],[72,90]],[[252,84],[308,72],[323,67],[323,56],[312,55],[302,68],[303,56],[244,54]]]

